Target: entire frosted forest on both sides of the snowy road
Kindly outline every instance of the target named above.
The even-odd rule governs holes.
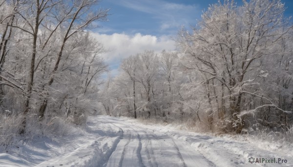
[[[1,151],[94,114],[293,141],[293,22],[281,0],[212,4],[174,35],[175,51],[142,50],[108,78],[91,30],[110,9],[98,4],[0,0]]]

